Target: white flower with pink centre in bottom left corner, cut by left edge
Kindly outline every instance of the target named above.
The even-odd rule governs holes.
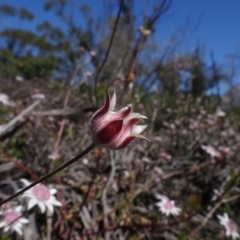
[[[29,220],[21,216],[21,210],[22,207],[18,206],[0,212],[3,216],[3,219],[0,222],[0,228],[3,228],[4,232],[17,232],[22,236],[23,224],[28,223]]]

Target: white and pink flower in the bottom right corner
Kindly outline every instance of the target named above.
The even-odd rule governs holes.
[[[233,222],[227,213],[224,213],[223,216],[217,215],[220,224],[223,225],[226,229],[226,236],[232,236],[232,239],[239,238],[239,233],[237,232],[237,224]]]

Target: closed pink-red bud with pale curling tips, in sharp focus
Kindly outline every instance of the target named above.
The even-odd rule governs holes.
[[[126,147],[135,138],[149,141],[140,133],[147,125],[136,125],[140,119],[146,118],[139,113],[132,112],[132,105],[114,112],[116,95],[110,100],[106,94],[106,101],[90,120],[90,128],[95,144],[111,149]]]

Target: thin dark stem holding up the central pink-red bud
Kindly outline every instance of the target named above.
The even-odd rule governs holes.
[[[79,160],[80,158],[82,158],[83,156],[85,156],[86,154],[88,154],[90,151],[92,151],[94,148],[96,147],[95,144],[91,144],[89,147],[87,147],[83,152],[79,153],[77,156],[73,157],[72,159],[70,159],[69,161],[67,161],[66,163],[64,163],[63,165],[61,165],[60,167],[56,168],[55,170],[53,170],[52,172],[40,177],[38,180],[36,180],[35,182],[31,183],[30,185],[28,185],[27,187],[21,189],[20,191],[18,191],[17,193],[13,194],[12,196],[6,198],[5,200],[3,200],[2,202],[0,202],[0,206],[3,205],[4,203],[12,200],[13,198],[19,196],[20,194],[24,193],[25,191],[27,191],[28,189],[34,187],[35,185],[37,185],[38,183],[44,181],[45,179],[53,176],[54,174],[62,171],[64,168],[70,166],[71,164],[73,164],[74,162],[76,162],[77,160]]]

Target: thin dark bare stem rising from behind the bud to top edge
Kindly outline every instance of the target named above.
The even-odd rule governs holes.
[[[116,30],[117,30],[117,26],[118,26],[120,14],[121,14],[121,11],[122,11],[122,8],[123,8],[123,3],[124,3],[124,0],[121,0],[120,7],[119,7],[119,9],[118,9],[117,19],[116,19],[116,22],[115,22],[115,24],[114,24],[112,36],[111,36],[111,39],[110,39],[110,42],[109,42],[109,45],[108,45],[108,49],[107,49],[105,58],[104,58],[104,60],[103,60],[103,62],[102,62],[102,65],[99,67],[99,69],[97,70],[97,73],[96,73],[95,86],[94,86],[94,88],[95,88],[96,105],[97,105],[97,82],[98,82],[98,75],[99,75],[99,73],[101,72],[101,70],[103,69],[105,63],[107,62],[108,55],[109,55],[110,49],[111,49],[111,47],[112,47],[112,43],[113,43],[113,40],[114,40],[114,37],[115,37],[115,33],[116,33]]]

